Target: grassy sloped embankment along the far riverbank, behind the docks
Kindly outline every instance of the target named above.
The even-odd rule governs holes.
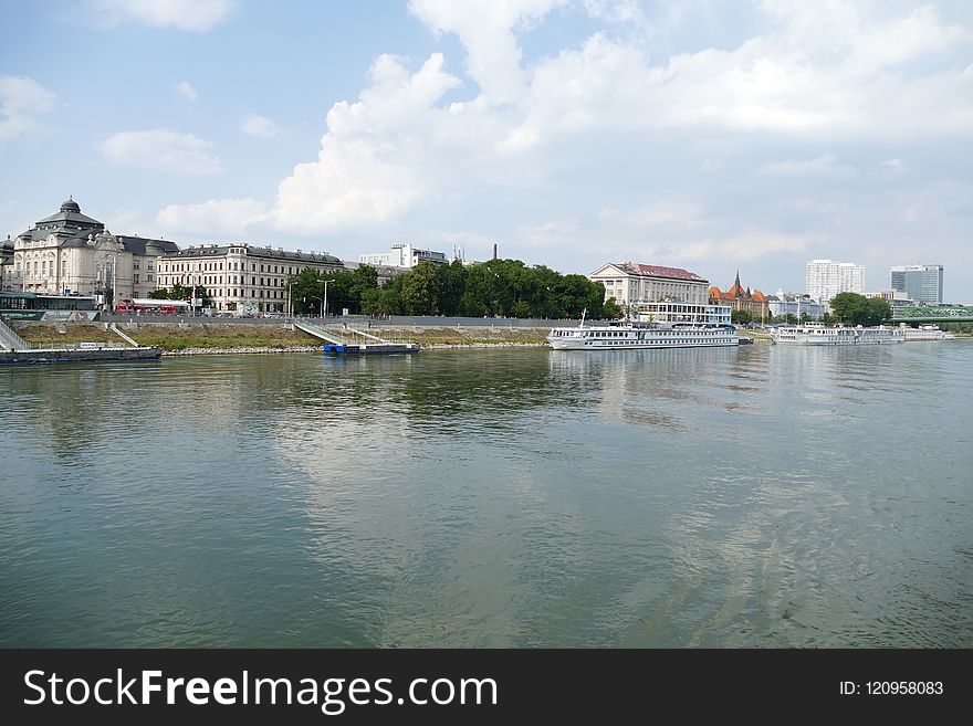
[[[247,325],[191,323],[181,328],[176,323],[147,323],[129,330],[122,329],[139,345],[154,346],[166,351],[269,349],[286,350],[317,348],[321,340],[291,330],[286,325]],[[19,324],[18,334],[28,343],[44,346],[74,345],[77,343],[104,343],[125,345],[117,335],[101,325],[79,324]],[[541,345],[546,329],[510,327],[389,327],[372,328],[372,335],[397,340],[412,340],[422,347],[483,346],[483,345]]]

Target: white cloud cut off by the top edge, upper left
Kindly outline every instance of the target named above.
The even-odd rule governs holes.
[[[154,28],[206,32],[223,20],[236,0],[92,0],[98,22],[114,28],[139,22]]]

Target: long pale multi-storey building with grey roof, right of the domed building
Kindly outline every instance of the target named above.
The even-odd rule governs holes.
[[[287,278],[304,270],[328,273],[344,263],[321,252],[287,252],[251,244],[201,244],[167,252],[158,260],[159,287],[201,285],[216,312],[287,313]],[[324,297],[324,295],[322,295]]]

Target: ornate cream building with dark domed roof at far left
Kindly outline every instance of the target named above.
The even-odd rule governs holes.
[[[98,295],[106,306],[148,296],[157,286],[157,259],[179,249],[167,240],[112,234],[73,199],[4,248],[4,290]]]

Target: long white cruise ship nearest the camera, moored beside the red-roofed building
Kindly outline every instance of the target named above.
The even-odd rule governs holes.
[[[732,325],[617,323],[604,326],[552,328],[547,341],[555,350],[639,350],[701,348],[740,343]]]

